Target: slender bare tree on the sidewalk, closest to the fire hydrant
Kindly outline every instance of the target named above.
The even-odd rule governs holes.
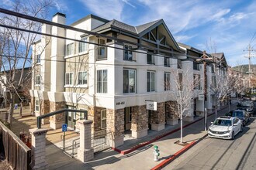
[[[180,119],[181,125],[181,137],[180,142],[183,143],[183,118],[192,116],[192,98],[196,96],[195,87],[199,84],[199,77],[193,79],[193,75],[189,70],[184,69],[183,72],[178,70],[172,70],[171,75],[173,77],[174,86],[171,88],[171,98],[175,100],[178,107],[178,112],[175,114]]]

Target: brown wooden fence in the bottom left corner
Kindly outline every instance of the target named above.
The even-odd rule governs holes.
[[[31,169],[31,149],[28,148],[9,128],[0,121],[0,136],[5,151],[5,158],[12,165],[12,169]],[[1,139],[1,138],[0,138]]]

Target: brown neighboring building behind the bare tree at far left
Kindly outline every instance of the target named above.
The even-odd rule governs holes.
[[[21,76],[21,71],[22,69],[16,69],[16,73],[15,73],[15,82],[18,83],[19,78]],[[23,73],[23,83],[22,83],[22,88],[21,90],[17,89],[17,93],[19,93],[19,96],[16,94],[15,96],[15,104],[19,104],[20,103],[20,98],[22,98],[22,100],[29,100],[29,89],[31,89],[31,67],[26,67],[24,68],[24,73]],[[10,91],[8,88],[5,87],[5,84],[7,82],[7,80],[9,79],[9,71],[3,71],[0,73],[1,76],[1,81],[0,81],[0,97],[3,97],[3,103],[2,106],[8,107],[9,106],[9,99],[10,99]]]

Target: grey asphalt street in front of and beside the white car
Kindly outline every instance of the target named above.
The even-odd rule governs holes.
[[[234,140],[206,137],[164,169],[256,169],[256,117]]]

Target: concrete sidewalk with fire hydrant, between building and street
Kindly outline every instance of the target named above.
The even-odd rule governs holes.
[[[236,108],[233,104],[230,109]],[[218,116],[227,113],[228,108],[225,108],[218,112]],[[208,117],[208,125],[211,121],[214,121],[214,114]],[[199,117],[197,118],[199,119]],[[183,129],[183,141],[191,143],[197,141],[199,138],[202,138],[207,134],[206,131],[203,131],[204,120],[196,121],[194,124],[190,124],[188,127]],[[189,124],[189,123],[185,123]],[[143,144],[144,142],[153,140],[156,138],[156,135],[164,134],[167,131],[173,131],[179,127],[179,124],[164,131],[158,131],[156,133],[148,135],[147,137],[140,140],[126,141],[125,145],[120,147],[120,150],[127,150],[133,148],[136,145]],[[178,141],[180,138],[180,131],[175,131],[172,134],[160,138],[157,141],[154,141],[148,145],[137,148],[135,151],[132,151],[126,155],[120,155],[118,152],[111,149],[103,151],[97,155],[91,162],[81,163],[74,158],[70,158],[61,150],[54,145],[49,145],[47,147],[47,162],[49,163],[50,169],[150,169],[154,168],[156,165],[160,164],[167,158],[170,158],[171,155],[175,154],[177,151],[180,151],[184,146],[176,145],[175,141]],[[153,146],[157,145],[160,150],[160,160],[154,162],[153,155]]]

